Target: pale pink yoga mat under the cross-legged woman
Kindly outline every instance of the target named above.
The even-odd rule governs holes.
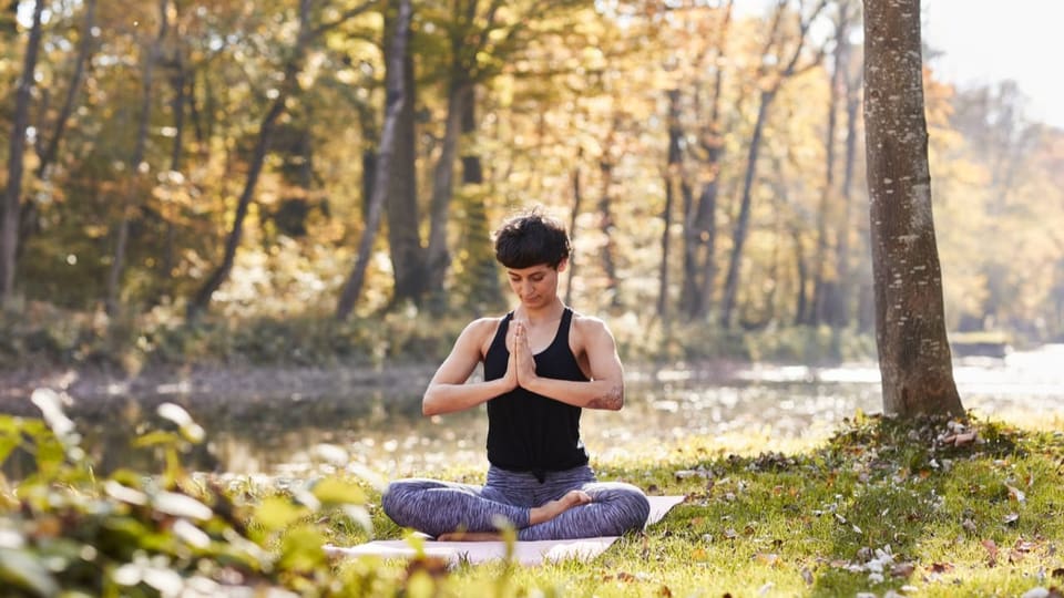
[[[683,496],[647,496],[651,514],[646,525],[662,520],[666,513],[684,501]],[[513,545],[513,559],[522,565],[539,565],[570,558],[590,560],[601,555],[616,542],[618,536],[580,538],[571,540],[518,542]],[[483,563],[505,558],[504,542],[436,542],[423,538],[426,556],[441,558],[449,565]],[[330,556],[378,556],[381,558],[412,558],[417,550],[406,540],[374,540],[358,546],[325,546]]]

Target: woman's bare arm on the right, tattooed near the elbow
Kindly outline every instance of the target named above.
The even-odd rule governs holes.
[[[613,334],[605,323],[596,319],[585,319],[580,323],[580,328],[579,342],[583,346],[583,353],[587,355],[591,381],[555,380],[535,375],[534,367],[529,367],[532,355],[523,334],[515,342],[518,381],[522,388],[562,403],[617,411],[624,406],[624,369],[621,358],[617,357]]]

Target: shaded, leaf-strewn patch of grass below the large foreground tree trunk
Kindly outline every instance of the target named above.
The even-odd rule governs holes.
[[[821,555],[812,596],[897,590],[914,576],[935,579],[953,568],[948,553],[935,550],[978,545],[978,529],[1010,501],[1007,485],[983,470],[1025,451],[1013,432],[976,429],[944,419],[877,416],[829,441],[820,458],[849,471],[835,478],[839,526]],[[937,555],[943,559],[935,561]]]

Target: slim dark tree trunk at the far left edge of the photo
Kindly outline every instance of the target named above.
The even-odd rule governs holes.
[[[22,169],[25,148],[25,130],[30,122],[30,91],[33,89],[33,73],[37,70],[37,55],[41,48],[41,13],[44,0],[33,4],[33,20],[30,38],[25,43],[25,58],[22,61],[22,74],[17,83],[14,95],[14,118],[11,126],[11,140],[8,150],[8,186],[0,205],[0,305],[14,292],[16,252],[19,247],[19,208],[22,194]]]

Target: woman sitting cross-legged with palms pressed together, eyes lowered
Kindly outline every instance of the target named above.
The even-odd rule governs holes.
[[[498,538],[499,517],[522,540],[642,528],[646,496],[597,482],[580,439],[583,408],[623,406],[624,371],[605,323],[557,296],[570,257],[565,228],[533,210],[504,223],[494,244],[520,303],[467,326],[422,400],[426,415],[487,403],[487,484],[400,480],[385,493],[385,513],[440,540]],[[483,381],[468,382],[479,363]]]

